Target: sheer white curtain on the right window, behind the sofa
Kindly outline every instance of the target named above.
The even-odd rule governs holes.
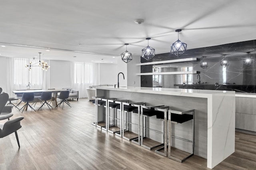
[[[79,90],[80,98],[87,98],[86,88],[99,83],[99,64],[73,62],[72,87]]]

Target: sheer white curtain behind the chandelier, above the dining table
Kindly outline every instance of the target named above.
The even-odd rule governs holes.
[[[47,89],[49,84],[49,72],[42,70],[38,64],[29,71],[25,67],[32,61],[32,64],[39,60],[7,58],[7,92],[9,96],[15,97],[12,90],[25,90],[30,82],[30,89]],[[47,61],[46,61],[47,62]]]

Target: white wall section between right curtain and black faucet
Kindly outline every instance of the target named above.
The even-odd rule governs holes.
[[[117,64],[99,64],[99,84],[117,84]]]

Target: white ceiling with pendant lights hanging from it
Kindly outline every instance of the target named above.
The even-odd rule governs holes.
[[[255,0],[3,0],[1,7],[3,57],[41,52],[43,59],[117,63],[124,43],[140,57],[146,37],[156,54],[168,53],[175,29],[188,49],[256,39]]]

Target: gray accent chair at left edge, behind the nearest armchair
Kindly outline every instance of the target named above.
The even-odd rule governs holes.
[[[9,99],[9,95],[7,93],[0,94],[0,120],[8,119],[13,116],[12,107],[6,106],[6,103]]]

